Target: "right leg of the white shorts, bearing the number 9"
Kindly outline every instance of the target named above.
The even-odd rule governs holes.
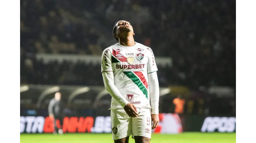
[[[139,108],[138,109],[139,116],[136,118],[131,118],[132,124],[132,138],[134,136],[143,136],[151,139],[151,113],[150,109],[147,108]]]

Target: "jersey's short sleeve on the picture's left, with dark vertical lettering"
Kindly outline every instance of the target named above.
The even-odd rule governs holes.
[[[105,71],[113,72],[110,48],[106,48],[103,51],[102,57],[101,57],[101,72],[105,72]]]

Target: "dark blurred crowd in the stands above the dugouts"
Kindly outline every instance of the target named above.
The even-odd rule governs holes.
[[[236,79],[235,0],[21,0],[20,78],[27,84],[102,85],[100,65],[44,64],[36,53],[101,55],[127,20],[155,56],[161,86],[232,86]]]

